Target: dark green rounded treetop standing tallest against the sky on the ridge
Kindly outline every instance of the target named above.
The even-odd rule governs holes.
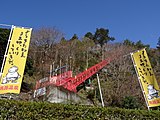
[[[96,29],[96,32],[94,34],[93,40],[96,44],[100,44],[101,47],[103,46],[104,43],[108,43],[109,41],[115,40],[114,37],[109,36],[109,30],[100,28]]]

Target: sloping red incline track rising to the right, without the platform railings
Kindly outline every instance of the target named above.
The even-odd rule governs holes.
[[[57,86],[62,86],[69,91],[76,92],[77,86],[79,86],[81,83],[83,83],[85,80],[90,78],[92,75],[97,73],[99,70],[101,70],[104,66],[106,66],[109,63],[110,63],[110,59],[103,60],[102,62],[81,72],[77,76],[63,79],[61,81],[56,82],[55,84]]]

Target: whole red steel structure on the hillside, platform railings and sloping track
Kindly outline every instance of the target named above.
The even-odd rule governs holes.
[[[67,71],[66,73],[62,73],[61,75],[52,76],[45,78],[44,82],[37,81],[35,89],[39,89],[42,87],[47,87],[49,85],[56,85],[61,86],[69,91],[77,92],[76,88],[85,82],[88,78],[90,78],[92,75],[96,74],[98,71],[100,71],[103,67],[105,67],[107,64],[109,64],[111,59],[105,59],[101,61],[100,63],[86,69],[85,71],[79,73],[78,75],[72,77],[72,71]],[[56,80],[54,78],[56,77]]]

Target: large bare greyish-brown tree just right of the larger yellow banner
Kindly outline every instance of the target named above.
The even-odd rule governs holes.
[[[55,27],[43,27],[33,31],[29,57],[33,58],[37,73],[42,76],[48,73],[50,64],[58,54],[56,44],[62,39],[65,39],[63,33]]]

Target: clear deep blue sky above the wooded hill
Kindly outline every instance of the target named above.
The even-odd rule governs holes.
[[[141,40],[156,48],[160,0],[2,0],[0,24],[56,27],[66,39],[105,28],[115,42]]]

